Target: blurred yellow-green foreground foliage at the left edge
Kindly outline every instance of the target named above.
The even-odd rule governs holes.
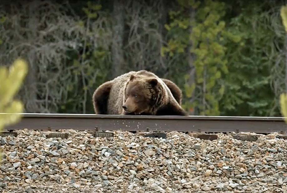
[[[16,60],[9,70],[0,67],[0,132],[6,125],[17,123],[21,119],[21,115],[16,113],[23,112],[23,104],[21,101],[14,100],[14,96],[26,74],[27,64],[23,60]]]

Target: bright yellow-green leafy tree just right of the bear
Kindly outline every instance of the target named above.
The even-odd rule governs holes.
[[[225,15],[224,3],[211,0],[202,4],[195,1],[179,3],[181,11],[170,12],[173,20],[166,28],[173,36],[162,48],[162,54],[168,53],[172,57],[191,46],[190,52],[196,58],[192,64],[196,69],[196,83],[184,85],[187,100],[183,106],[186,109],[197,107],[201,115],[219,115],[219,100],[225,91],[221,77],[228,73],[226,40],[237,43],[240,37],[225,29],[225,22],[221,20]],[[197,7],[194,18],[190,17],[190,12],[183,14],[185,8],[189,10],[190,7]],[[189,75],[185,76],[186,80],[189,78]],[[193,92],[197,96],[190,102]]]

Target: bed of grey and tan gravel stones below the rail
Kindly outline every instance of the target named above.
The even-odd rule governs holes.
[[[202,140],[168,132],[144,138],[116,131],[69,138],[19,130],[0,137],[0,192],[286,192],[286,140],[258,135],[256,142],[231,135]]]

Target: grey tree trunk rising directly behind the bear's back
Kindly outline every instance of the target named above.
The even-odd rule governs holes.
[[[124,72],[124,51],[123,51],[123,40],[124,40],[124,1],[115,0],[113,10],[113,67],[112,76],[116,77]]]

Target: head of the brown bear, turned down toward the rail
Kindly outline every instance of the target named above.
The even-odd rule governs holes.
[[[124,114],[152,115],[162,99],[163,87],[156,78],[131,75],[124,89]]]

